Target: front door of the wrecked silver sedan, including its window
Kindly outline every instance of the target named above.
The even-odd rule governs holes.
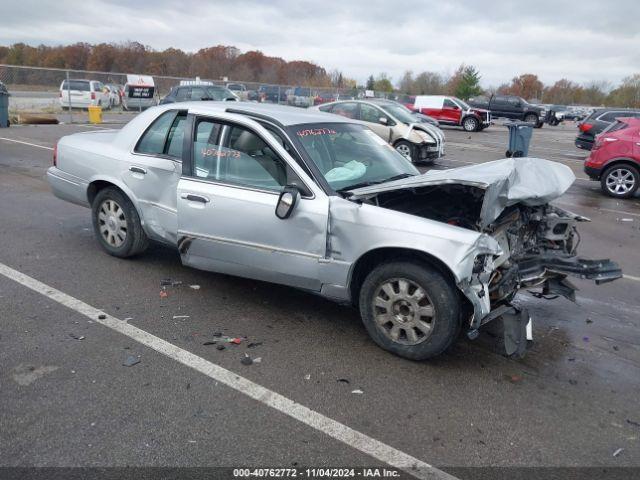
[[[259,133],[261,132],[261,133]],[[320,290],[328,198],[263,129],[195,119],[193,164],[178,183],[178,248],[186,265]],[[296,169],[300,174],[296,173]],[[284,220],[280,191],[297,185],[301,199]]]

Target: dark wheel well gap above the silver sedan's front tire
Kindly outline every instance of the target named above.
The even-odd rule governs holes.
[[[349,293],[351,294],[351,302],[357,307],[358,298],[360,296],[360,288],[364,283],[367,275],[378,265],[391,261],[409,260],[426,264],[438,272],[440,272],[452,285],[456,285],[453,273],[447,265],[440,259],[419,250],[411,250],[409,248],[385,247],[371,250],[362,255],[355,263],[351,270],[349,282]],[[464,295],[460,295],[465,298]],[[467,300],[468,301],[468,300]]]

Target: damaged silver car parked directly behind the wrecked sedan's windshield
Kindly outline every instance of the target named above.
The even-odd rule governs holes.
[[[312,109],[362,122],[413,163],[433,162],[444,155],[442,130],[417,119],[398,102],[374,98],[344,100]]]

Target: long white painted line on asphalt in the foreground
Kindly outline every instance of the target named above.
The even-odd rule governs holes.
[[[178,363],[193,368],[213,380],[223,383],[228,387],[257,400],[289,417],[304,423],[330,437],[339,440],[346,445],[360,450],[361,452],[384,462],[392,467],[404,470],[416,478],[425,480],[457,480],[456,477],[439,470],[428,463],[423,462],[411,455],[397,450],[375,438],[371,438],[364,433],[360,433],[336,420],[311,410],[304,405],[269,390],[251,380],[244,378],[226,368],[198,357],[193,353],[184,350],[172,343],[167,342],[151,333],[141,330],[133,325],[107,315],[101,310],[84,303],[66,293],[56,290],[22,272],[0,263],[0,274],[5,277],[30,288],[34,292],[44,295],[51,300],[58,302],[71,310],[74,310],[94,322],[98,322],[105,327],[126,335],[136,342],[145,345],[158,353],[166,355]],[[99,318],[103,316],[104,318]]]

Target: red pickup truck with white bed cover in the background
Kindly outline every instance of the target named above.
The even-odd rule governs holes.
[[[417,95],[410,109],[438,120],[442,125],[458,125],[467,132],[477,132],[491,125],[491,112],[470,107],[457,97]]]

